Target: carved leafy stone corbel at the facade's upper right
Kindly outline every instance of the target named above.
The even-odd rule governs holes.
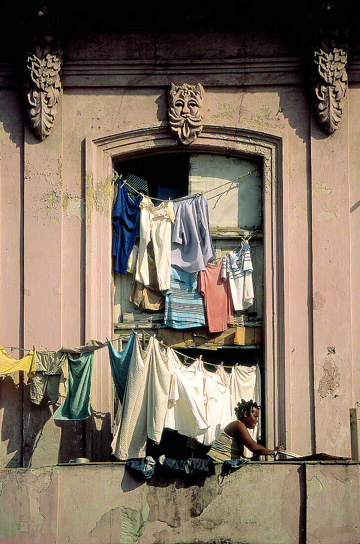
[[[312,91],[319,123],[332,134],[339,126],[347,91],[347,12],[344,2],[314,3]]]

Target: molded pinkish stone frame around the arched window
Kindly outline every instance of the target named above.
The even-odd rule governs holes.
[[[285,445],[290,431],[287,401],[289,361],[288,192],[286,139],[245,129],[205,125],[191,147],[178,144],[169,128],[140,128],[97,139],[85,139],[85,275],[84,322],[86,340],[113,335],[111,274],[111,205],[113,163],[144,154],[174,151],[225,153],[254,158],[263,164],[264,220],[264,361],[266,441]],[[91,403],[98,432],[86,433],[87,452],[102,458],[107,442],[102,421],[112,410],[108,354],[100,350],[92,378]],[[288,425],[286,425],[288,422]],[[90,434],[90,436],[89,436]],[[100,441],[95,441],[97,436]],[[89,456],[89,455],[88,455]],[[106,454],[104,454],[106,457]],[[104,459],[105,460],[105,459]]]

